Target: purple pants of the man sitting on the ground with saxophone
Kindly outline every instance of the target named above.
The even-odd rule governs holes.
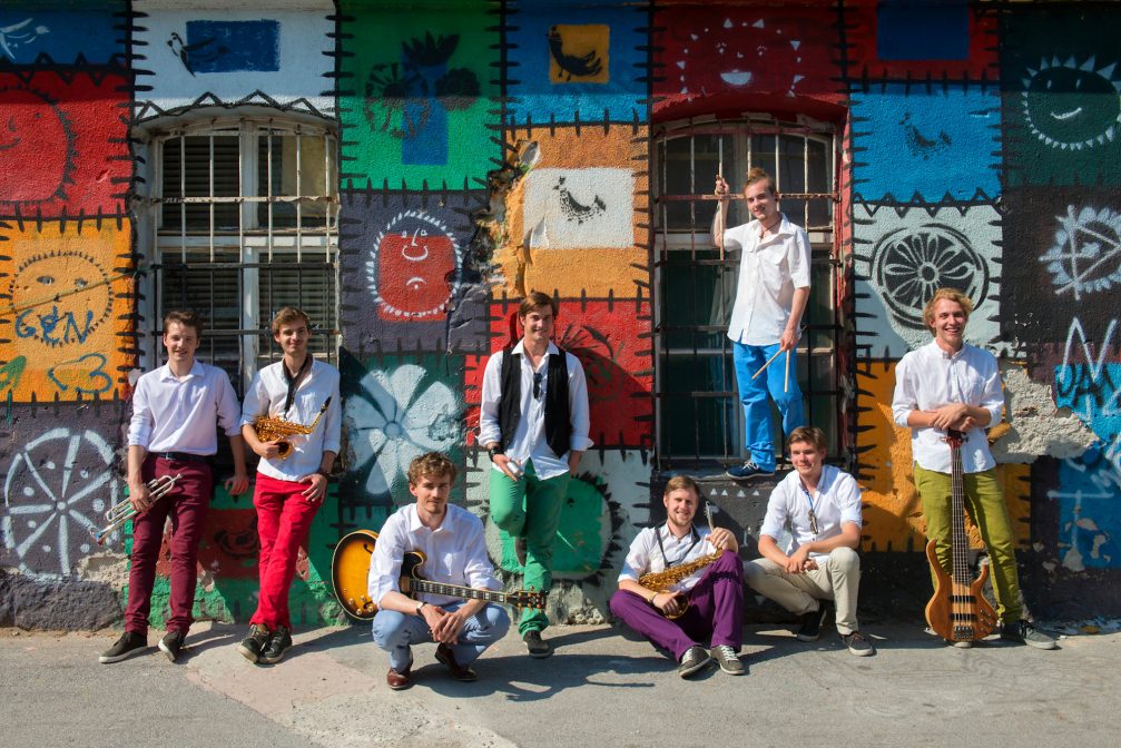
[[[711,641],[726,644],[736,652],[743,644],[743,562],[731,551],[708,566],[688,593],[689,607],[670,620],[633,592],[619,590],[611,595],[611,612],[658,649],[679,661],[689,647]]]

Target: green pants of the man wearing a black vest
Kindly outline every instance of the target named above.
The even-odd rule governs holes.
[[[568,473],[540,480],[534,463],[527,461],[526,472],[517,481],[497,470],[491,471],[490,478],[491,520],[511,537],[526,538],[525,588],[548,592],[553,584],[553,545],[568,489]],[[527,608],[521,611],[518,632],[541,631],[548,625],[544,610]]]

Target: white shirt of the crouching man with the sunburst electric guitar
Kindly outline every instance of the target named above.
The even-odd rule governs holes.
[[[487,556],[483,524],[478,517],[450,504],[439,527],[428,529],[420,523],[417,505],[410,504],[389,516],[373,545],[367,583],[373,604],[380,606],[387,592],[401,591],[401,558],[406,551],[424,553],[426,560],[419,573],[429,581],[475,590],[502,589]],[[413,597],[434,606],[458,599],[428,593]]]

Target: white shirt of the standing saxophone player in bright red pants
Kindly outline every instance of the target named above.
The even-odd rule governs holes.
[[[309,354],[311,355],[311,354]],[[288,413],[284,413],[288,397],[288,380],[284,375],[284,361],[270,363],[253,377],[253,384],[245,393],[241,410],[241,423],[252,425],[260,416],[270,415],[290,423],[309,426],[319,414],[319,408],[331,398],[331,405],[311,434],[286,436],[291,444],[291,454],[281,460],[261,459],[257,472],[277,480],[297,481],[319,469],[324,452],[339,453],[342,430],[339,401],[339,370],[330,363],[313,361],[312,370],[296,388]]]

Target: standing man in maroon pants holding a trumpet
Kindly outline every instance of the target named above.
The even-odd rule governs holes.
[[[194,312],[164,317],[167,363],[137,380],[129,422],[129,501],[139,512],[132,520],[132,564],[124,634],[99,661],[115,663],[148,647],[148,613],[164,525],[172,518],[172,615],[160,650],[175,662],[191,628],[195,601],[198,543],[210,509],[214,477],[210,459],[217,452],[214,423],[230,438],[233,478],[225,489],[238,495],[249,487],[245,445],[239,428],[238,397],[230,377],[195,360],[202,321]],[[148,482],[179,475],[172,489],[154,499]]]

